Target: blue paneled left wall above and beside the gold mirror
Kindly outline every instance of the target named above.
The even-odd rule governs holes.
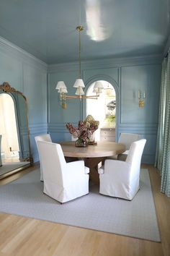
[[[30,144],[38,161],[35,135],[47,132],[47,65],[0,38],[0,84],[9,84],[27,97]]]

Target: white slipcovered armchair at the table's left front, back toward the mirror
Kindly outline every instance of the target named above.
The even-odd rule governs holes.
[[[89,193],[89,168],[84,161],[66,163],[60,144],[37,141],[44,178],[44,193],[67,202]]]

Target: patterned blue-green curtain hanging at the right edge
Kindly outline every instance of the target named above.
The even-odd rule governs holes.
[[[162,63],[155,166],[161,174],[161,192],[170,197],[170,51]]]

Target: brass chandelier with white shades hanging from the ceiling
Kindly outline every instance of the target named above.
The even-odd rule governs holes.
[[[66,109],[67,104],[66,100],[68,98],[78,98],[81,100],[82,98],[91,98],[93,100],[97,100],[99,97],[99,94],[102,93],[103,85],[102,82],[95,82],[94,83],[94,88],[93,88],[93,93],[94,95],[84,95],[84,81],[81,79],[81,31],[84,30],[84,27],[82,25],[79,25],[76,27],[76,30],[79,31],[79,78],[76,79],[76,82],[74,83],[73,87],[76,88],[76,93],[75,95],[66,95],[68,93],[68,90],[66,88],[65,82],[59,81],[55,87],[56,90],[58,90],[58,93],[60,93],[60,101],[61,101],[61,106]]]

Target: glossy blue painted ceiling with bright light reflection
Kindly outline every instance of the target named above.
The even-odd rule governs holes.
[[[169,0],[0,0],[0,36],[48,64],[162,54]]]

